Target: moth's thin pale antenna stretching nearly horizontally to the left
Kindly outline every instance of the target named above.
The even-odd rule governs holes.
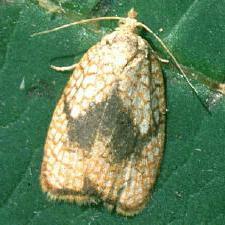
[[[61,29],[67,28],[67,27],[71,27],[71,26],[74,26],[74,25],[91,23],[91,22],[100,21],[100,20],[121,20],[121,19],[125,19],[125,18],[119,17],[119,16],[106,16],[106,17],[84,19],[84,20],[79,20],[79,21],[75,21],[75,22],[72,22],[72,23],[64,24],[60,27],[55,27],[51,30],[45,30],[45,31],[41,31],[41,32],[38,32],[38,33],[34,33],[34,34],[31,35],[31,37],[42,35],[42,34],[48,34],[48,33],[51,33],[51,32],[57,31],[57,30],[61,30]]]

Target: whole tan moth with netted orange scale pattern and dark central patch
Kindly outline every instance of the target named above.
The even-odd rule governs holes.
[[[150,198],[163,155],[166,103],[159,58],[137,33],[140,26],[151,30],[136,16],[131,9],[127,18],[84,20],[117,19],[119,26],[77,64],[53,67],[73,73],[44,147],[40,181],[52,199],[101,201],[133,216]]]

